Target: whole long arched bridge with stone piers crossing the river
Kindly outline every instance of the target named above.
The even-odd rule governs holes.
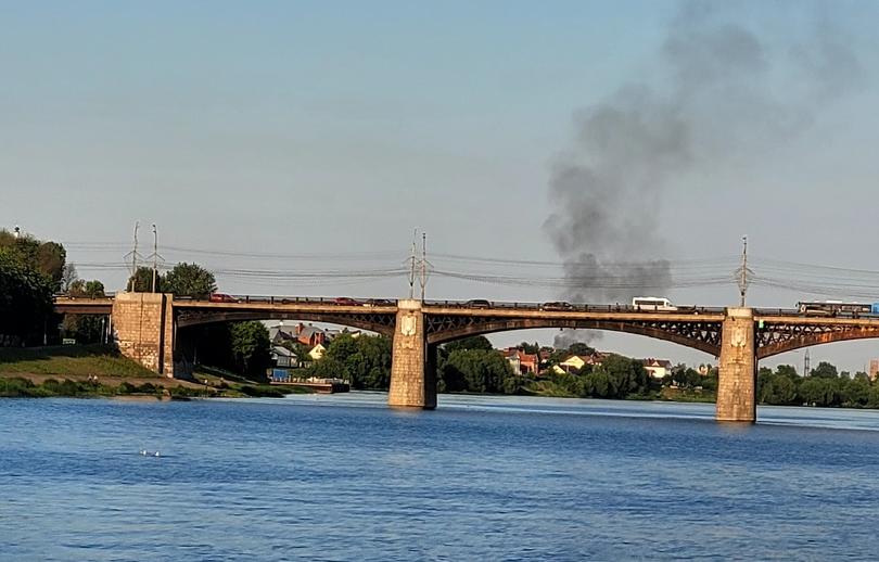
[[[56,297],[55,310],[107,315],[120,352],[174,376],[181,328],[242,320],[311,320],[369,330],[393,341],[388,404],[436,407],[436,346],[461,337],[532,328],[610,330],[673,342],[717,357],[716,419],[756,420],[761,359],[817,344],[879,337],[879,317],[814,317],[794,309],[621,305],[558,307],[527,303],[313,297],[234,297],[229,302],[119,293],[106,298]]]

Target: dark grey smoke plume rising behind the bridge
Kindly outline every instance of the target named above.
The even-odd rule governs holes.
[[[803,7],[785,4],[786,15],[807,16]],[[571,285],[564,298],[665,295],[673,279],[659,217],[670,187],[790,141],[859,84],[857,59],[826,20],[812,17],[805,37],[779,44],[734,15],[728,4],[681,4],[649,61],[655,78],[575,113],[573,146],[551,170],[555,213],[545,223]]]

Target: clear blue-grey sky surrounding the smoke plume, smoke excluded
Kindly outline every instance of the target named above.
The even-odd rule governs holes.
[[[67,243],[80,264],[118,263],[136,220],[142,240],[155,222],[161,241],[178,247],[372,252],[393,255],[382,257],[393,264],[420,228],[433,252],[560,261],[544,225],[558,212],[549,199],[552,167],[577,145],[573,116],[626,85],[674,90],[662,46],[681,5],[686,12],[689,4],[672,1],[0,2],[0,226]],[[752,252],[767,258],[879,269],[871,213],[879,4],[713,5],[722,22],[760,38],[770,61],[766,85],[736,82],[748,104],[741,119],[726,100],[691,105],[702,119],[695,135],[702,159],[666,178],[654,199],[620,203],[655,220],[650,238],[661,244],[645,247],[673,260],[730,257],[748,234]],[[856,55],[861,72],[843,93],[808,98],[797,72],[808,53],[798,46],[821,26]],[[761,127],[749,112],[765,99],[761,115],[803,115],[795,130]],[[278,267],[164,254],[211,267]],[[353,263],[361,261],[334,265]],[[110,289],[125,278],[80,272]],[[400,280],[305,289],[220,282],[229,292],[406,292]],[[431,280],[429,291],[559,296],[447,279]],[[670,296],[728,305],[736,289],[675,289]],[[766,306],[800,297],[752,292],[752,302]],[[634,336],[607,335],[598,345],[710,359]],[[879,343],[813,350],[813,362],[849,369],[869,357],[879,357]]]

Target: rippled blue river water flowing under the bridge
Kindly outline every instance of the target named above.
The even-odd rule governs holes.
[[[879,558],[879,412],[384,401],[0,399],[0,559]]]

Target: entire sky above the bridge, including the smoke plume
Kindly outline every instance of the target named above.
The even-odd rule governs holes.
[[[877,16],[868,1],[0,1],[0,227],[64,243],[109,290],[139,222],[143,257],[155,223],[166,265],[202,264],[225,292],[403,297],[418,229],[429,298],[705,306],[738,303],[747,235],[750,304],[879,302]],[[654,260],[641,274],[667,273],[659,288],[560,281]],[[375,271],[397,274],[349,274]],[[862,370],[879,342],[811,355]]]

